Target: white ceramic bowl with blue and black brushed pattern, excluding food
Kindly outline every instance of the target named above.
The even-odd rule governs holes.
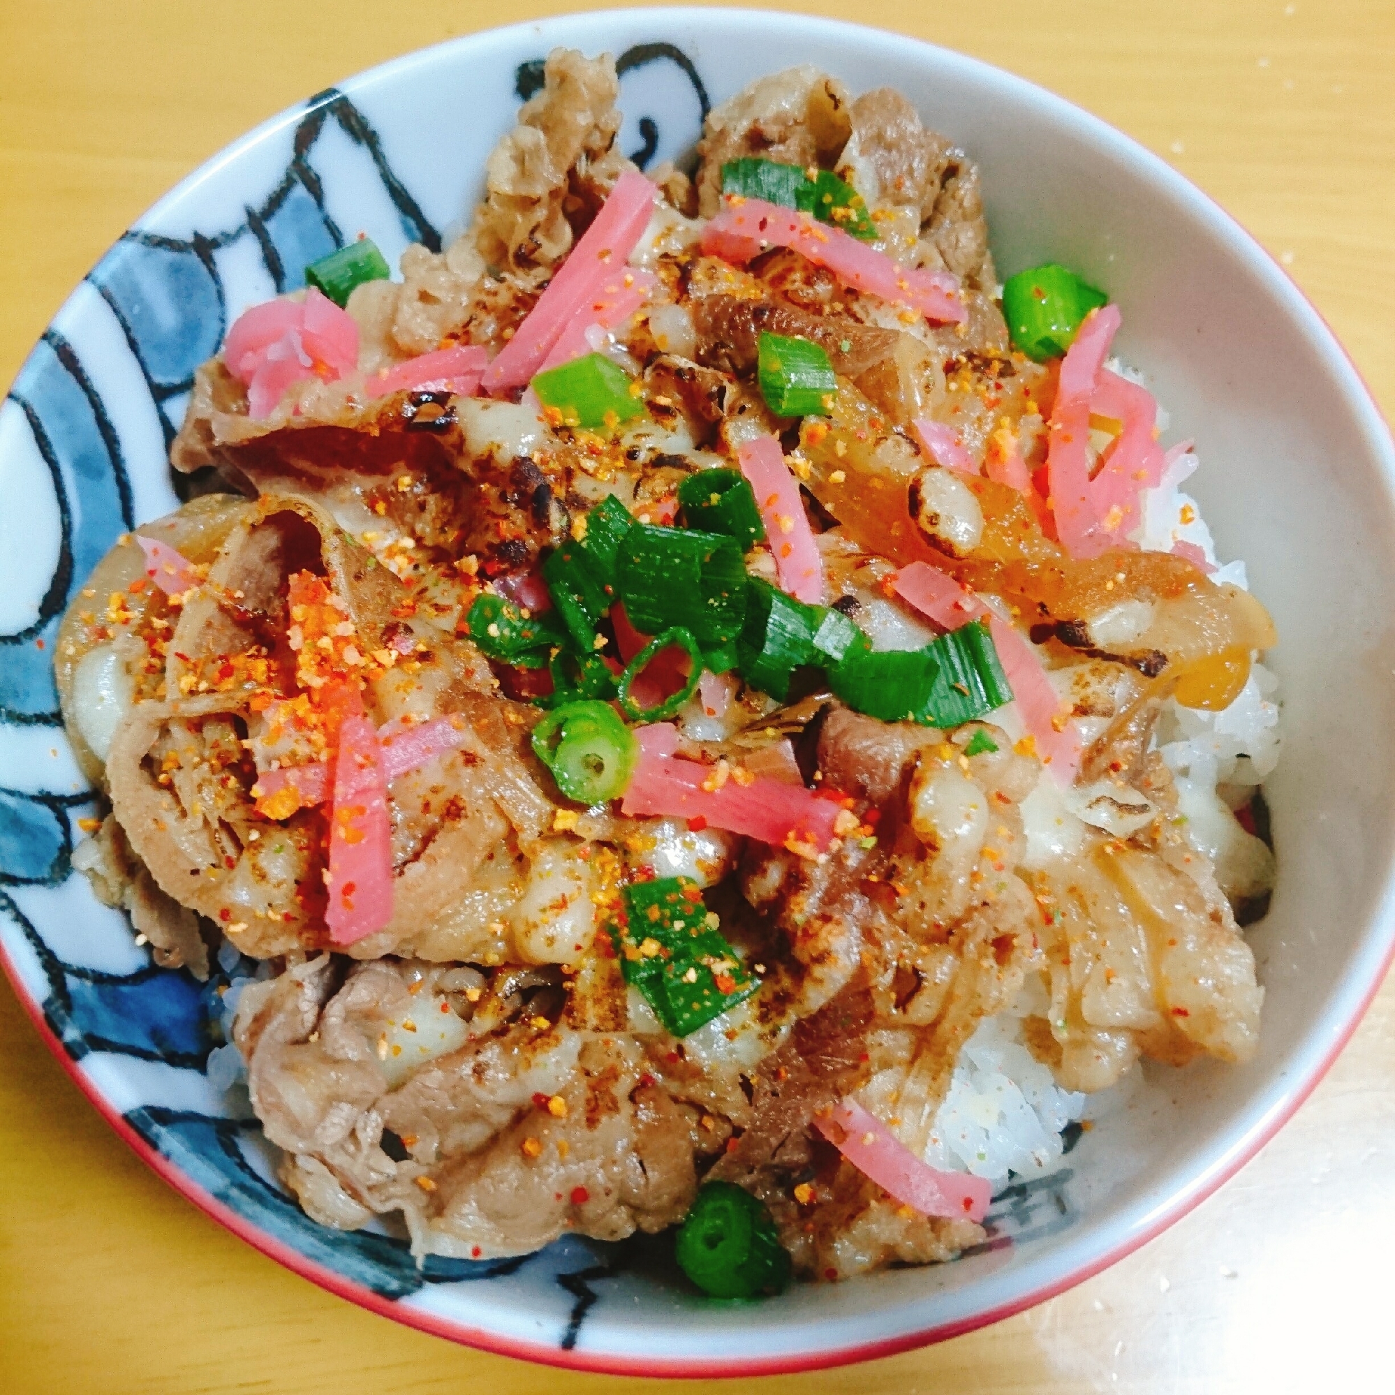
[[[1046,1179],[993,1202],[961,1260],[759,1304],[698,1297],[665,1246],[566,1240],[418,1268],[388,1229],[339,1233],[275,1182],[246,1102],[205,1074],[211,992],[153,967],[70,870],[92,795],[56,714],[57,617],[123,530],[166,512],[195,364],[246,306],[367,232],[391,261],[467,216],[484,156],[555,45],[619,60],[622,142],[679,156],[751,80],[815,63],[890,84],[982,165],[999,268],[1067,262],[1123,307],[1226,557],[1278,621],[1286,749],[1268,784],[1279,880],[1250,932],[1258,1057],[1147,1071]],[[1317,312],[1179,174],[1101,121],[971,59],[824,20],[629,10],[516,25],[375,68],[275,117],[126,233],[0,410],[0,943],[21,999],[112,1126],[251,1244],[345,1297],[474,1346],[593,1370],[756,1374],[882,1356],[990,1322],[1156,1235],[1313,1088],[1391,957],[1395,455]]]

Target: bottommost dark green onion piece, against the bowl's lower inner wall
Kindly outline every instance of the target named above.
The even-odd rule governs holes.
[[[704,1182],[678,1228],[674,1258],[714,1299],[783,1293],[790,1251],[780,1244],[770,1208],[734,1182]]]

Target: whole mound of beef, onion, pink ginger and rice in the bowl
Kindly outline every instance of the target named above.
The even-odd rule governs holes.
[[[640,172],[617,91],[551,54],[456,243],[199,370],[199,497],[57,644],[74,861],[317,1221],[681,1226],[749,1299],[953,1258],[1140,1057],[1254,1053],[1275,633],[1127,306],[999,285],[905,98],[777,73]]]

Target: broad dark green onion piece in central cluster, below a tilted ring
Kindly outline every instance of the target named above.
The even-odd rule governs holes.
[[[746,566],[735,538],[636,523],[619,545],[617,582],[631,624],[647,635],[671,626],[714,649],[746,618]]]

